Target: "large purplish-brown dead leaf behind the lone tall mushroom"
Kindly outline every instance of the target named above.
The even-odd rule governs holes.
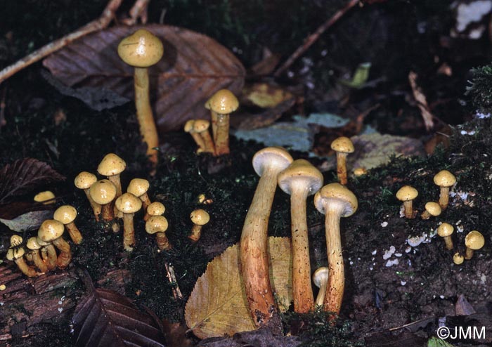
[[[88,35],[46,58],[44,66],[67,86],[106,88],[133,98],[133,68],[119,59],[117,45],[139,28],[112,27]],[[162,60],[149,69],[161,132],[179,129],[188,119],[208,118],[203,105],[219,89],[240,93],[245,69],[224,46],[180,27],[147,25],[145,29],[164,43]]]

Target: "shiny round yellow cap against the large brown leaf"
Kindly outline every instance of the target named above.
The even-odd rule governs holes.
[[[139,29],[119,42],[119,58],[134,67],[149,67],[157,63],[164,54],[162,41],[153,33]]]

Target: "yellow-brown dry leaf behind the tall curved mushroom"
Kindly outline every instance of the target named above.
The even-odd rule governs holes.
[[[268,250],[270,280],[280,310],[286,310],[292,301],[290,238],[268,237]],[[239,271],[239,251],[235,244],[216,256],[198,278],[186,303],[186,325],[200,339],[255,329]]]

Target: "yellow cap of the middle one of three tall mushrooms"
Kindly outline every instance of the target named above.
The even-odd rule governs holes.
[[[323,186],[323,174],[307,160],[294,160],[278,174],[278,186],[287,194],[291,194],[295,185],[305,187],[308,195],[313,195]]]

